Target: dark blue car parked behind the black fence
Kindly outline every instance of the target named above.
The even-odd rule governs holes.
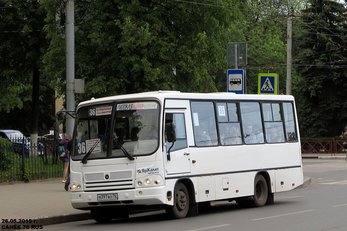
[[[13,144],[13,151],[20,155],[23,153],[24,138],[24,156],[29,157],[30,138],[25,137],[22,132],[16,130],[0,130],[0,137],[9,140]],[[44,155],[42,143],[37,143],[37,155]]]

